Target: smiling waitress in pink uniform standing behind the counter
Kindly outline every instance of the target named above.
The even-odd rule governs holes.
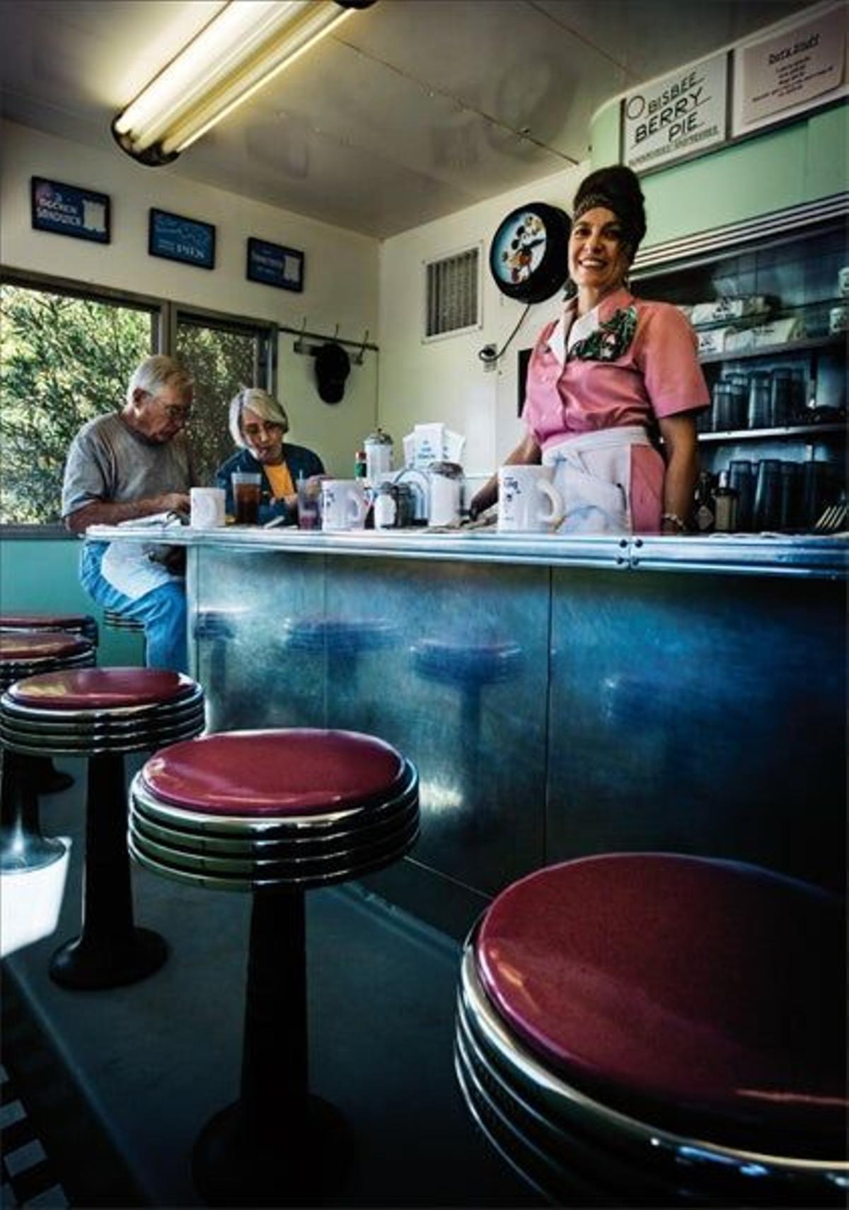
[[[554,466],[565,505],[560,532],[688,526],[695,416],[710,394],[688,321],[671,304],[628,289],[645,234],[643,196],[630,168],[600,168],[582,182],[568,241],[577,295],[537,340],[522,410],[527,432],[506,460]],[[497,496],[493,476],[472,500],[470,515]]]

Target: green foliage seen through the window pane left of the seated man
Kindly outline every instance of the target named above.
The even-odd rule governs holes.
[[[119,409],[152,351],[150,311],[0,286],[0,524],[60,518],[77,430]]]

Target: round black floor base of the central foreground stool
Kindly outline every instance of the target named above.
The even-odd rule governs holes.
[[[242,1102],[207,1122],[192,1151],[192,1179],[207,1205],[319,1205],[337,1192],[353,1163],[351,1130],[340,1111],[308,1097],[306,1129],[248,1131]]]

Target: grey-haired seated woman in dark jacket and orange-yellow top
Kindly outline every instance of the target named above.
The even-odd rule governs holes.
[[[230,401],[230,434],[242,448],[215,472],[215,486],[226,492],[226,511],[235,513],[233,471],[259,471],[262,476],[259,523],[277,517],[298,524],[298,480],[324,474],[322,460],[304,445],[283,444],[289,417],[282,405],[260,387],[242,387]]]

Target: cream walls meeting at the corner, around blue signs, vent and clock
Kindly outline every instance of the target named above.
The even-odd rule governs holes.
[[[88,148],[12,123],[2,123],[0,259],[7,267],[52,273],[94,286],[128,289],[229,315],[273,319],[329,336],[369,340],[352,367],[345,399],[323,403],[314,388],[313,359],[294,353],[295,338],[279,342],[278,393],[291,421],[291,439],[323,456],[331,473],[348,476],[354,451],[381,424],[395,439],[418,421],[441,420],[467,438],[464,468],[485,477],[521,436],[516,401],[516,357],[550,315],[559,295],[531,307],[498,363],[486,371],[478,358],[485,344],[501,348],[522,306],[502,295],[489,272],[489,244],[501,219],[532,201],[570,208],[588,165],[545,177],[380,244],[356,232],[316,223],[236,194],[174,175],[168,167],[145,168],[117,146]],[[29,178],[42,175],[108,194],[112,240],[83,240],[34,231]],[[148,255],[148,209],[157,206],[213,223],[213,272]],[[249,282],[246,241],[256,236],[300,248],[306,255],[305,290],[290,294]],[[480,243],[483,295],[480,330],[429,344],[423,330],[423,261]]]

